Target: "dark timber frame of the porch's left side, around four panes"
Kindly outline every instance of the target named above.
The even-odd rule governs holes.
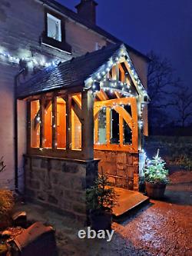
[[[73,97],[74,94],[81,93],[81,98]],[[50,94],[49,94],[50,96]],[[61,97],[66,102],[66,149],[57,148],[57,101],[56,98]],[[40,103],[40,147],[31,148],[31,101],[39,100]],[[94,117],[93,105],[94,95],[92,91],[73,91],[69,90],[68,94],[61,95],[59,92],[51,94],[52,112],[54,118],[52,120],[52,148],[44,148],[44,131],[45,131],[45,101],[46,95],[40,95],[35,98],[29,98],[27,102],[27,153],[28,155],[45,155],[61,158],[74,158],[82,160],[91,160],[94,158]],[[81,150],[74,150],[71,148],[71,110],[74,110],[81,121]],[[91,128],[92,127],[92,128]],[[84,142],[83,142],[84,141]]]

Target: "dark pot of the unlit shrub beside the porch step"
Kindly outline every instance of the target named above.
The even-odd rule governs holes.
[[[110,211],[90,211],[91,228],[94,231],[111,231],[112,213]]]

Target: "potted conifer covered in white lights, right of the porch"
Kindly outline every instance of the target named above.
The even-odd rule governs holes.
[[[157,155],[151,161],[147,161],[144,168],[145,189],[150,198],[163,198],[167,183],[169,182],[168,171],[165,168],[165,161]]]

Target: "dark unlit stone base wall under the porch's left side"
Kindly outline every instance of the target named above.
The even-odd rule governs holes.
[[[98,161],[25,155],[25,195],[61,214],[86,221],[85,188],[98,175]]]

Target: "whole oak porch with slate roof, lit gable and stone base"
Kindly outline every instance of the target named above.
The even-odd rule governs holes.
[[[26,194],[78,214],[98,173],[95,158],[111,184],[138,189],[147,92],[124,45],[42,71],[18,98],[28,105]]]

